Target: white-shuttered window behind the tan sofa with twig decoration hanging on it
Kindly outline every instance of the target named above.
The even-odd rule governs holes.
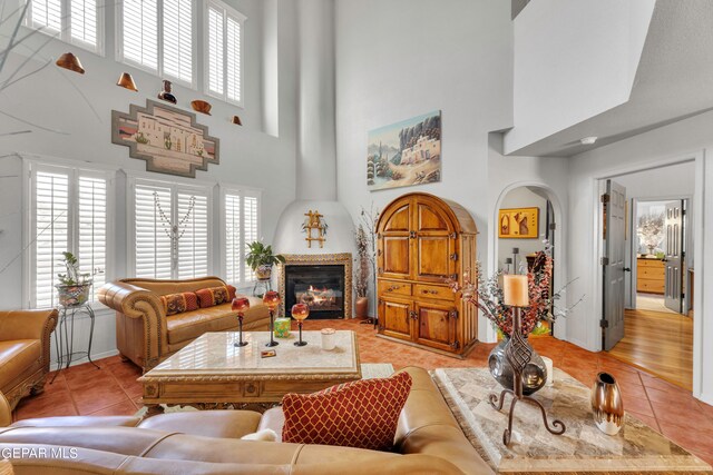
[[[209,188],[135,180],[133,274],[186,279],[211,270]]]

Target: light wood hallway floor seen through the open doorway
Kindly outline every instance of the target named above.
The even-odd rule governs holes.
[[[693,319],[673,313],[627,309],[624,338],[609,355],[691,390]]]

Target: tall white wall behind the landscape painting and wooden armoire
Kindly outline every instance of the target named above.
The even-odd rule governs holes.
[[[424,191],[473,216],[487,256],[488,132],[511,123],[509,2],[336,0],[336,182],[356,220]],[[442,182],[370,192],[367,131],[442,111]],[[481,324],[485,337],[486,325]]]

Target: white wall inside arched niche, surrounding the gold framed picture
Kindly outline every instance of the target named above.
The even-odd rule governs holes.
[[[506,159],[506,158],[504,158]],[[535,254],[538,250],[545,249],[545,245],[543,244],[543,239],[545,239],[545,234],[547,230],[545,229],[547,222],[547,198],[541,197],[533,192],[528,187],[519,187],[514,190],[508,191],[508,194],[502,199],[500,204],[501,209],[506,208],[538,208],[538,231],[536,238],[528,239],[511,239],[511,238],[498,238],[498,267],[505,269],[505,259],[507,257],[512,257],[512,248],[517,247],[519,249],[519,255],[517,257],[518,268],[520,267],[520,263],[525,263],[527,266],[526,256],[528,254]],[[498,230],[498,227],[494,228],[494,232]],[[514,270],[512,265],[510,265],[510,270]]]

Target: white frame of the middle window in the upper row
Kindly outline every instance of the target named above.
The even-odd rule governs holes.
[[[66,1],[66,0],[62,0]],[[191,40],[191,82],[187,82],[180,78],[176,78],[172,75],[168,75],[164,70],[164,0],[156,0],[156,9],[157,9],[157,31],[156,31],[156,51],[157,51],[157,61],[156,69],[149,68],[148,66],[141,65],[140,62],[133,61],[124,56],[124,0],[117,1],[115,4],[115,53],[116,61],[131,68],[139,69],[141,71],[148,72],[153,76],[156,76],[160,79],[167,79],[174,85],[179,85],[186,87],[188,89],[198,90],[198,9],[197,2],[192,2],[192,40]]]

